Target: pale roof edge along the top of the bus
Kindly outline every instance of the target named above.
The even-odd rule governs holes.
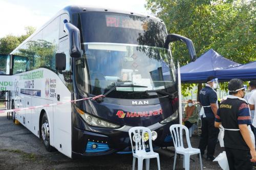
[[[63,8],[60,10],[56,15],[54,15],[49,21],[47,21],[43,26],[41,26],[39,29],[37,29],[31,36],[29,36],[25,41],[23,41],[21,44],[19,44],[10,54],[13,54],[19,47],[21,47],[23,44],[25,44],[28,40],[30,40],[32,37],[34,37],[38,32],[40,32],[42,29],[44,29],[49,23],[51,23],[56,17],[58,17],[61,14],[68,14],[70,16],[70,19],[72,20],[72,15],[76,13],[82,13],[82,12],[113,12],[113,13],[121,13],[121,14],[132,14],[142,17],[148,17],[150,19],[157,20],[159,22],[162,22],[160,18],[157,18],[155,16],[149,16],[149,15],[143,15],[142,13],[134,13],[132,11],[124,11],[124,10],[117,10],[117,9],[109,9],[109,8],[98,8],[98,7],[92,7],[92,6],[77,6],[77,5],[71,5]]]

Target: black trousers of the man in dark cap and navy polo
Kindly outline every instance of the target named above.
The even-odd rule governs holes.
[[[201,154],[207,147],[207,157],[214,156],[219,129],[214,127],[215,118],[202,117],[202,134],[199,142]]]

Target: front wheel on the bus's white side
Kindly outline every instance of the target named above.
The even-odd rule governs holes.
[[[48,118],[46,113],[42,115],[41,136],[42,136],[42,141],[44,142],[44,145],[46,147],[46,150],[49,152],[52,152],[53,147],[50,145],[50,130],[49,130]]]

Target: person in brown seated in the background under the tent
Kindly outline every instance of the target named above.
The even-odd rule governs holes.
[[[187,101],[187,107],[185,108],[185,117],[182,119],[184,125],[189,129],[198,120],[197,108],[193,105],[193,101],[189,99]]]

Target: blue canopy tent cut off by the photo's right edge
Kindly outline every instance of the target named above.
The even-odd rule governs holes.
[[[220,81],[229,81],[230,79],[250,81],[256,79],[256,61],[233,68],[216,70],[216,77]]]

